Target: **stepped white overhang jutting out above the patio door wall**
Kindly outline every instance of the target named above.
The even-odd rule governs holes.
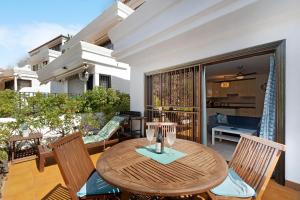
[[[161,49],[155,48],[159,44],[204,27],[256,1],[146,1],[126,20],[109,31],[109,38],[115,48],[113,56],[119,61],[133,65],[133,62],[143,58],[137,56],[140,52],[151,49],[147,52],[148,55],[159,54]],[[198,40],[205,38],[199,36]],[[174,44],[169,51],[175,50],[176,47]]]

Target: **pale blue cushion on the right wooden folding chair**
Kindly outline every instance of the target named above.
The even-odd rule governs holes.
[[[228,197],[247,198],[255,196],[255,190],[243,181],[233,169],[229,169],[223,183],[211,189],[211,192],[216,195]]]

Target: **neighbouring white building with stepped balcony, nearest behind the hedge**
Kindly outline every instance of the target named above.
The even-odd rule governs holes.
[[[130,5],[136,8],[140,1],[134,2]],[[121,2],[114,3],[64,43],[62,55],[42,67],[38,79],[42,83],[60,82],[65,93],[82,93],[96,86],[129,93],[130,67],[114,59],[107,33],[133,12]]]

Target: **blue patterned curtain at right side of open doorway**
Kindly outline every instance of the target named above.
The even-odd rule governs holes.
[[[276,66],[274,55],[270,56],[270,72],[266,87],[260,137],[275,140],[276,129]]]

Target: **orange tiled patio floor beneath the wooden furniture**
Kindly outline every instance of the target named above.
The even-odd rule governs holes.
[[[95,163],[100,154],[91,156]],[[62,184],[60,186],[59,184]],[[57,165],[45,167],[40,173],[35,161],[28,161],[10,166],[7,181],[4,185],[5,200],[38,200],[38,199],[69,199],[64,181]],[[299,200],[300,192],[276,184],[271,181],[263,200]]]

